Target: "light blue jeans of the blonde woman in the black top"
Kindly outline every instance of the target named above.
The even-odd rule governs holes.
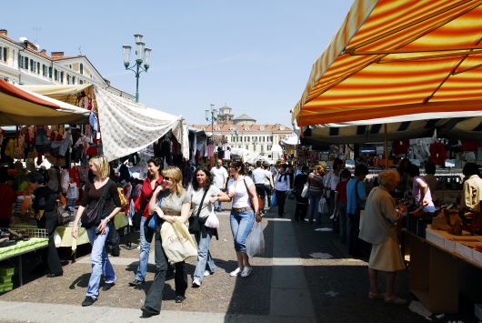
[[[87,229],[87,236],[92,245],[90,253],[90,263],[92,264],[92,273],[90,274],[89,285],[85,296],[97,298],[99,296],[100,277],[104,275],[105,283],[115,282],[115,272],[109,261],[109,256],[105,251],[105,240],[109,234],[109,226],[105,227],[105,234],[96,235],[96,227]]]

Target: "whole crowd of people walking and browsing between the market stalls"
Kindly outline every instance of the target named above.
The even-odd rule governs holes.
[[[246,253],[246,237],[255,221],[262,221],[266,206],[276,206],[277,216],[285,217],[286,197],[293,197],[296,210],[290,217],[295,223],[319,225],[322,217],[326,217],[350,255],[368,258],[368,298],[383,297],[387,302],[404,304],[406,300],[397,297],[394,290],[397,271],[405,267],[397,228],[400,227],[402,213],[407,212],[407,205],[400,201],[407,201],[407,192],[410,192],[408,211],[412,215],[437,210],[433,196],[437,189],[435,167],[427,164],[426,175],[422,177],[419,167],[406,159],[397,170],[380,172],[375,187],[369,192],[365,182],[368,168],[358,164],[352,174],[338,158],[331,162],[329,170],[326,164],[321,163],[295,167],[286,162],[270,166],[257,161],[254,167],[249,167],[240,160],[229,161],[226,169],[223,161],[217,160],[216,166],[211,169],[196,168],[192,183],[187,186],[183,186],[183,174],[179,168],[163,168],[162,160],[158,158],[148,160],[148,176],[144,180],[131,178],[125,167],[115,182],[112,167],[104,156],[91,158],[88,165],[90,174],[85,185],[79,190],[71,181],[64,192],[66,207],[75,210],[72,236],[78,236],[79,223],[82,222],[92,245],[92,272],[82,306],[95,303],[102,276],[105,279],[103,290],[115,286],[115,270],[105,245],[109,232],[115,231],[115,215],[123,210],[117,189],[120,183],[126,199],[132,201],[134,211],[140,217],[139,262],[135,277],[129,282],[131,287],[139,288],[146,283],[151,243],[155,246],[155,278],[142,307],[147,317],[159,314],[166,277],[171,273],[175,276],[176,303],[186,299],[185,262],[169,263],[160,233],[160,227],[165,222],[189,223],[189,232],[194,235],[197,245],[197,263],[191,287],[201,288],[203,279],[216,272],[210,244],[213,237],[218,238],[217,227],[207,226],[206,221],[222,209],[223,202],[231,202],[229,220],[237,261],[237,266],[229,275],[246,278],[253,273]],[[480,211],[482,179],[477,165],[467,163],[463,174],[465,180],[460,209]],[[6,172],[0,171],[0,192],[4,192],[5,200],[12,201],[5,205],[12,206],[15,194],[11,194],[12,187],[7,184],[7,179]],[[61,185],[58,181],[46,181],[45,176],[37,172],[29,173],[26,180],[34,191],[33,208],[38,227],[45,228],[49,238],[48,247],[42,255],[48,270],[47,277],[62,276],[63,269],[54,243],[54,231],[58,225],[55,207]],[[276,205],[272,205],[272,201]],[[129,212],[129,207],[124,210]],[[156,228],[148,226],[152,217],[158,220]],[[0,221],[5,222],[4,219]],[[387,273],[385,294],[380,294],[377,289],[380,271]]]

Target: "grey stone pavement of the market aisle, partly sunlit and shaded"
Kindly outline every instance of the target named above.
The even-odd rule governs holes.
[[[286,216],[276,209],[263,221],[266,251],[252,259],[254,273],[248,278],[231,278],[236,255],[228,211],[219,215],[219,240],[211,252],[216,274],[205,278],[201,288],[188,288],[186,301],[174,301],[174,279],[166,282],[161,315],[150,320],[206,322],[418,322],[425,318],[407,306],[387,305],[367,299],[367,263],[346,255],[336,234],[317,232],[315,226],[290,220],[294,203],[287,200]],[[226,205],[226,209],[229,206]],[[311,257],[312,253],[332,256]],[[37,278],[0,297],[0,320],[33,322],[136,322],[140,318],[146,290],[154,277],[153,253],[143,289],[128,287],[134,278],[138,250],[121,250],[111,257],[117,281],[109,291],[100,291],[94,306],[82,308],[90,275],[88,256],[64,267],[60,278]],[[186,263],[188,283],[196,259]],[[25,268],[26,270],[26,268]],[[407,275],[398,279],[397,289],[407,295]]]

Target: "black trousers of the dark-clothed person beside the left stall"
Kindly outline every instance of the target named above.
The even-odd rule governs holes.
[[[58,225],[57,214],[55,211],[45,211],[44,217],[37,220],[38,228],[45,228],[48,236],[48,247],[42,250],[42,262],[52,274],[62,274],[62,264],[58,257],[57,248],[54,242],[55,227]]]

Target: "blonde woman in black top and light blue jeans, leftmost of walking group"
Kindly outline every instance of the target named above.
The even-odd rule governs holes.
[[[115,229],[114,226],[109,226],[109,223],[114,220],[115,215],[122,209],[117,186],[109,178],[110,167],[105,156],[91,158],[89,160],[89,168],[95,177],[92,181],[85,183],[84,197],[77,210],[72,227],[72,237],[76,238],[78,235],[78,221],[82,217],[85,208],[87,208],[87,211],[96,209],[96,217],[92,223],[87,223],[83,217],[83,227],[86,228],[90,244],[92,245],[90,254],[92,273],[85,299],[82,302],[84,307],[94,304],[95,300],[97,300],[100,277],[102,275],[105,278],[104,291],[115,285],[115,272],[105,251],[105,240],[109,229]]]

